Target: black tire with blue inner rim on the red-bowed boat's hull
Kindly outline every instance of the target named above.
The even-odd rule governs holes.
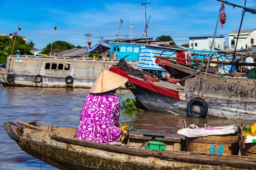
[[[200,100],[200,101],[199,101]],[[191,106],[192,105],[201,105],[202,108],[203,108],[203,111],[201,111],[200,115],[199,116],[194,116],[192,114],[192,111],[191,111]],[[189,117],[196,117],[196,118],[204,118],[207,113],[208,113],[208,105],[207,105],[207,102],[204,101],[204,99],[202,99],[201,97],[195,97],[194,99],[190,100],[188,105],[187,105],[187,108],[186,108],[186,111],[187,111],[187,115]]]

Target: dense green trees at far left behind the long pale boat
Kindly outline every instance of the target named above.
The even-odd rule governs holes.
[[[7,57],[12,54],[12,47],[15,40],[15,36],[12,38],[8,36],[0,36],[0,63],[5,63]],[[26,41],[22,37],[16,37],[13,54],[19,53],[20,55],[28,54],[30,55],[31,48],[26,44]]]

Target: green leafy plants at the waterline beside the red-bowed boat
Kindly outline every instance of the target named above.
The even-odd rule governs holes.
[[[125,111],[147,111],[137,98],[135,99],[135,101],[134,99],[126,99],[125,101],[122,101],[122,105]]]

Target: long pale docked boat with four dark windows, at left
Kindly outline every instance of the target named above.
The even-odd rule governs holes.
[[[0,83],[6,86],[90,88],[99,72],[118,60],[43,56],[8,57],[0,70]],[[137,61],[130,61],[137,68]]]

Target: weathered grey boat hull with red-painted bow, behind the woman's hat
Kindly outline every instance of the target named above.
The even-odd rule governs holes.
[[[202,94],[204,76],[186,79],[185,86],[181,86],[161,80],[145,81],[118,67],[109,70],[128,79],[126,87],[148,111],[192,117],[208,114],[229,119],[256,119],[255,79],[207,77]],[[195,97],[200,97],[197,98],[201,105],[199,116],[191,114]]]

